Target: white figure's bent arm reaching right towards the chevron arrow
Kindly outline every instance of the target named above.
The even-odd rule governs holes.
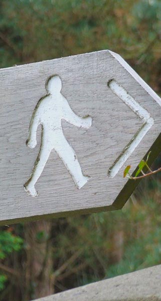
[[[89,115],[80,117],[77,114],[75,114],[66,99],[64,99],[63,119],[78,127],[89,128],[92,125],[92,118]]]

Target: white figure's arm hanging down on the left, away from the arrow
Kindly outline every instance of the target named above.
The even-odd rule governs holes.
[[[29,137],[26,141],[27,146],[30,148],[34,148],[37,144],[36,140],[36,133],[37,133],[37,128],[38,125],[40,124],[40,109],[39,109],[39,104],[35,108],[31,121],[30,121],[30,127],[29,127]]]

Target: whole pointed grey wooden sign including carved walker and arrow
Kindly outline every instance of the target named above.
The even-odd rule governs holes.
[[[160,98],[100,51],[0,70],[1,224],[120,209],[161,149]]]

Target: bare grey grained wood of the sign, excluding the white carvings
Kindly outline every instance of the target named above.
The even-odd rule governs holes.
[[[45,82],[58,74],[62,94],[73,111],[92,117],[89,129],[62,121],[65,137],[77,154],[84,175],[91,179],[77,189],[57,154],[51,153],[36,189],[38,197],[28,196],[24,184],[37,158],[38,144],[26,146],[29,124],[39,99],[46,95]],[[115,79],[154,119],[130,158],[114,178],[107,173],[124,147],[140,128],[142,120],[107,86]],[[136,185],[123,179],[130,164],[134,171],[153,144],[153,161],[160,152],[161,107],[159,97],[115,53],[100,51],[0,70],[0,220],[1,224],[59,217],[79,213],[119,209]],[[124,189],[124,187],[126,189]]]

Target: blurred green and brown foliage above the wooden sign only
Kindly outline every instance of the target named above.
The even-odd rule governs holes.
[[[126,59],[154,60],[159,38],[145,57],[142,54],[159,34],[159,7],[160,1],[2,0],[0,32],[5,37],[0,38],[0,64],[6,67],[107,48]]]

